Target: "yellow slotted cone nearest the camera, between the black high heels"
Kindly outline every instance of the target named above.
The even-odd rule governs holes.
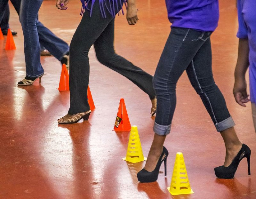
[[[190,188],[188,174],[184,162],[183,154],[178,152],[174,163],[172,182],[167,188],[172,195],[193,194]]]

